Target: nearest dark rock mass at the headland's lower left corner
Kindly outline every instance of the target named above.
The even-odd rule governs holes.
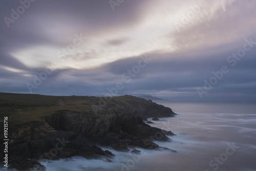
[[[86,137],[71,131],[56,131],[47,122],[19,125],[11,132],[8,144],[9,168],[45,170],[37,160],[57,160],[72,156],[107,160],[114,156],[109,151],[103,151]]]

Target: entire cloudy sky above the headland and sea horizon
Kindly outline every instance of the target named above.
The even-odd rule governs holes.
[[[0,92],[256,101],[254,0],[0,2]]]

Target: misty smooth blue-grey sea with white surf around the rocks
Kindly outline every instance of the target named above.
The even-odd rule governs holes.
[[[173,109],[174,118],[151,126],[172,131],[172,142],[158,142],[168,151],[141,150],[141,155],[116,152],[113,162],[73,157],[42,161],[47,170],[256,170],[256,107],[253,103],[178,103],[156,101]]]

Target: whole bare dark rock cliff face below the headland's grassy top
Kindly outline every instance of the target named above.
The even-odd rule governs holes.
[[[148,106],[150,104],[152,106]],[[45,117],[45,122],[19,125],[9,136],[8,151],[9,156],[13,157],[10,158],[12,161],[10,164],[13,168],[22,170],[44,170],[44,166],[36,163],[36,160],[25,161],[25,159],[55,160],[82,156],[88,159],[103,157],[106,160],[114,156],[97,145],[111,146],[123,152],[129,152],[136,146],[168,150],[153,141],[170,141],[165,134],[174,134],[151,127],[143,120],[152,117],[154,111],[158,109],[160,112],[156,113],[157,117],[173,116],[172,110],[146,100],[145,103],[131,105],[134,107],[124,108],[120,105],[108,104],[97,114],[56,111],[51,116]],[[158,106],[157,109],[150,111],[155,105]],[[166,111],[166,114],[162,114]]]

